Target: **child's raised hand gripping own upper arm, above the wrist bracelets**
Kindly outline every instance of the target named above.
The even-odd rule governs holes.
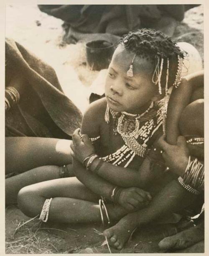
[[[71,149],[73,151],[72,156],[75,157],[79,162],[83,162],[86,157],[95,152],[94,146],[86,134],[79,136],[80,129],[76,129],[73,133],[73,140],[71,142]]]

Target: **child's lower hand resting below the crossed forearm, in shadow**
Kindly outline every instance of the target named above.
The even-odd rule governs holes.
[[[149,204],[150,193],[140,188],[124,188],[119,196],[118,203],[129,211],[134,211]]]

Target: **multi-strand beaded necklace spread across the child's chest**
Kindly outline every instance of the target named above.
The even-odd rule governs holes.
[[[126,161],[124,167],[127,167],[130,162],[132,162],[135,155],[145,157],[145,154],[147,153],[148,140],[163,124],[164,104],[162,103],[163,102],[160,101],[156,104],[155,107],[158,107],[158,110],[155,110],[155,112],[152,111],[154,104],[151,103],[148,109],[140,115],[121,112],[120,117],[118,117],[117,112],[111,110],[107,105],[105,121],[107,123],[110,122],[110,113],[115,123],[115,128],[113,129],[114,134],[116,134],[116,132],[119,133],[125,144],[116,152],[105,157],[100,157],[100,159],[110,162],[113,165],[120,165],[122,162]],[[150,115],[150,112],[152,115]],[[146,121],[140,127],[141,119]],[[138,142],[138,140],[140,142]]]

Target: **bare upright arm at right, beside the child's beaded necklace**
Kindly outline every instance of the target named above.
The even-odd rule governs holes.
[[[173,88],[168,102],[166,120],[166,140],[169,144],[176,144],[179,136],[178,123],[181,113],[190,103],[194,90],[200,86],[204,86],[204,71],[185,76],[178,88]]]

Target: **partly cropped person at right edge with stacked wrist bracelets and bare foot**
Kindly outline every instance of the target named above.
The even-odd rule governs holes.
[[[179,211],[195,201],[196,196],[204,190],[204,72],[196,72],[182,79],[181,85],[173,88],[168,104],[166,125],[166,140],[161,137],[158,146],[163,149],[163,158],[169,169],[180,175],[169,183],[153,199],[147,209],[127,214],[114,227],[104,231],[112,246],[121,249],[129,238],[130,232],[148,222],[165,215]],[[179,134],[183,136],[178,136]],[[187,142],[187,143],[186,143]],[[189,157],[191,155],[191,157]],[[155,162],[156,158],[152,158]],[[192,171],[196,170],[196,173]],[[193,172],[193,173],[192,173]],[[168,196],[169,195],[169,196]],[[189,202],[189,203],[188,203]],[[203,239],[204,232],[198,227],[192,230],[191,240],[189,232],[183,238],[165,238],[160,247],[185,248],[194,241]],[[195,236],[196,234],[196,236]],[[181,238],[179,240],[179,238]],[[194,242],[195,243],[195,242]]]

